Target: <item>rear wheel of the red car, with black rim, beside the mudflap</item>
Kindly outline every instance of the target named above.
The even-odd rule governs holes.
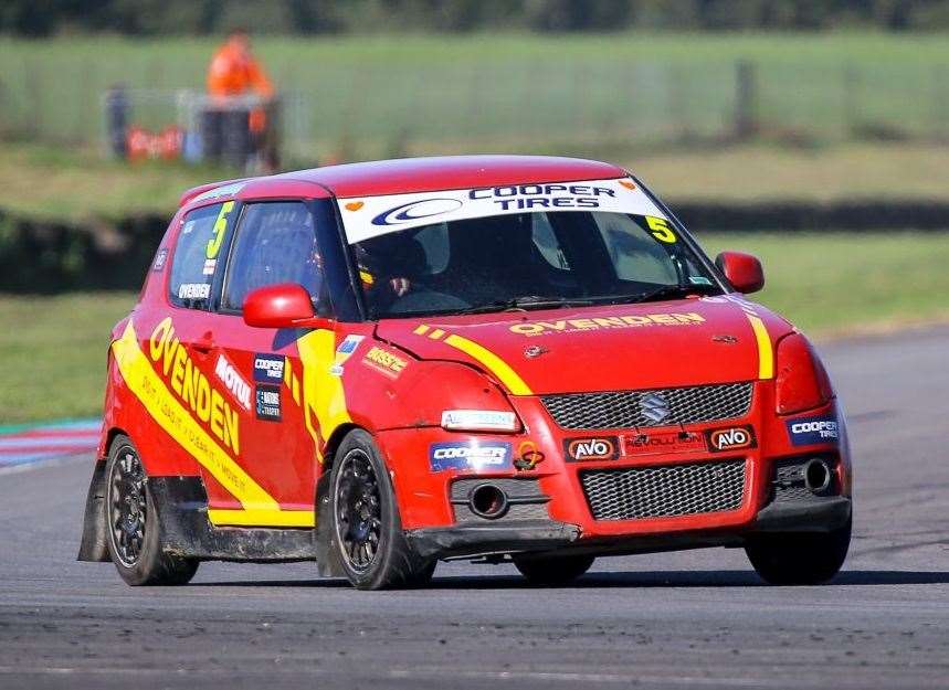
[[[129,585],[183,585],[197,559],[166,553],[145,468],[128,436],[116,436],[105,469],[106,542],[112,562]]]

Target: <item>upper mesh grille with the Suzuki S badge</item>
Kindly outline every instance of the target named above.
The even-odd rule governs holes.
[[[665,403],[665,416],[655,412],[655,396]],[[644,399],[646,404],[643,405]],[[612,391],[605,393],[568,393],[542,395],[547,412],[562,428],[603,429],[675,426],[732,420],[748,414],[751,407],[750,383],[696,385],[654,391]],[[653,410],[650,410],[653,403]]]

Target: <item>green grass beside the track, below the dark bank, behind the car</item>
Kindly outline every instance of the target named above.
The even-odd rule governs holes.
[[[758,254],[768,286],[755,299],[818,337],[949,319],[949,234],[709,235]],[[0,425],[98,414],[112,326],[131,293],[0,296]]]

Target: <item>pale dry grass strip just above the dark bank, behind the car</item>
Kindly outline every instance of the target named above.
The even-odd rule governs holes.
[[[443,153],[445,149],[415,152]],[[846,144],[820,149],[758,144],[665,152],[641,152],[629,144],[591,144],[583,150],[548,152],[626,166],[673,204],[684,199],[718,203],[949,200],[946,149],[924,144]],[[306,164],[288,161],[294,168]],[[233,177],[239,174],[214,168],[105,160],[101,152],[88,149],[0,144],[0,209],[32,217],[85,221],[146,212],[170,217],[186,189]]]

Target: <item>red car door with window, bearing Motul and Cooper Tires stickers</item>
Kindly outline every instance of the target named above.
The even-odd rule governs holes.
[[[316,445],[304,412],[296,329],[254,328],[242,307],[252,290],[297,283],[321,316],[323,273],[313,215],[303,202],[247,203],[230,247],[220,304],[211,315],[211,369],[240,414],[238,464],[262,490],[252,505],[207,477],[215,524],[314,524]]]

